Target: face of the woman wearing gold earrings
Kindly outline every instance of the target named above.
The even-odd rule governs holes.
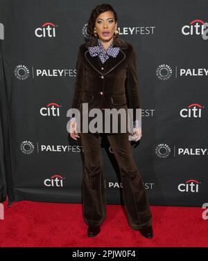
[[[115,22],[113,12],[102,12],[101,15],[96,18],[95,28],[98,37],[103,42],[108,42],[112,39],[114,31],[117,28],[117,23]]]

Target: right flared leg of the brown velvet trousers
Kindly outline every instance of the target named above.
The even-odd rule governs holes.
[[[109,134],[107,138],[121,172],[122,192],[128,222],[132,229],[138,230],[152,225],[152,213],[128,136],[128,133]]]

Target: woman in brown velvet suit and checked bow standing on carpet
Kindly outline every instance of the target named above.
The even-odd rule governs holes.
[[[133,135],[141,138],[141,120],[136,118],[140,107],[137,78],[137,57],[132,44],[119,38],[117,15],[109,4],[101,4],[92,10],[87,24],[87,33],[92,39],[79,46],[76,84],[71,108],[78,109],[83,118],[93,119],[81,112],[83,103],[89,109],[101,109],[102,120],[105,109],[133,109]],[[127,105],[128,101],[128,105]],[[74,116],[74,114],[73,114]],[[101,165],[101,136],[107,136],[121,172],[123,199],[132,229],[147,238],[153,237],[152,213],[143,185],[142,177],[132,155],[129,133],[99,131],[78,132],[78,118],[70,120],[70,136],[81,137],[85,163],[83,172],[83,217],[88,225],[87,235],[94,237],[101,231],[106,217],[106,199]],[[119,118],[126,123],[126,118]],[[83,124],[80,117],[81,126]],[[114,123],[114,121],[113,121]],[[106,125],[106,123],[104,123]],[[112,121],[111,121],[112,124]],[[80,136],[78,135],[80,134]]]

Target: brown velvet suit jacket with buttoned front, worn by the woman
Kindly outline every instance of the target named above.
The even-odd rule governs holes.
[[[135,109],[141,108],[135,48],[121,38],[114,38],[114,47],[118,46],[121,50],[116,57],[109,56],[102,66],[98,56],[89,55],[88,46],[98,46],[97,38],[91,39],[87,44],[81,44],[78,50],[77,74],[71,108],[80,110],[80,126],[82,126],[83,102],[88,103],[88,109],[99,108],[102,111],[105,108],[133,109],[131,120],[135,120]],[[90,117],[88,119],[89,122],[92,120]],[[119,118],[118,127],[121,120],[127,123],[127,117]],[[105,132],[104,125],[103,120],[103,132]],[[128,129],[125,132],[128,132]],[[112,133],[112,129],[107,133]]]

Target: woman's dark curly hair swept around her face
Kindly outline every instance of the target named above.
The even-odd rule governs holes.
[[[114,8],[112,8],[112,6],[110,6],[107,3],[102,3],[101,5],[96,6],[92,10],[92,13],[87,22],[87,34],[90,35],[91,37],[95,37],[94,36],[94,26],[95,26],[97,17],[99,15],[101,15],[102,12],[106,12],[106,11],[112,11],[114,14],[115,22],[117,21],[117,14],[116,14],[116,11],[114,10]],[[119,34],[116,34],[114,37],[119,37]]]

